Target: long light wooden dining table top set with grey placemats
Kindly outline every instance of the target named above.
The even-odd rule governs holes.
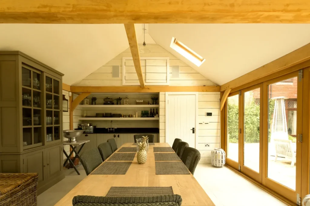
[[[136,147],[132,143],[125,143],[122,147]],[[173,193],[181,195],[182,205],[209,206],[215,205],[206,194],[192,174],[163,174],[155,173],[155,157],[153,147],[170,147],[168,143],[155,143],[149,145],[147,161],[145,164],[137,162],[137,153],[126,174],[99,175],[89,174],[68,194],[55,205],[72,205],[72,199],[76,195],[105,196],[110,187],[170,187]],[[117,152],[115,151],[115,152]],[[111,155],[113,156],[113,154]],[[110,157],[111,157],[110,156]],[[104,161],[102,164],[107,162]],[[111,162],[111,161],[109,161]],[[118,161],[119,162],[119,161]],[[126,162],[126,161],[122,161]],[[98,168],[98,167],[97,167]]]

